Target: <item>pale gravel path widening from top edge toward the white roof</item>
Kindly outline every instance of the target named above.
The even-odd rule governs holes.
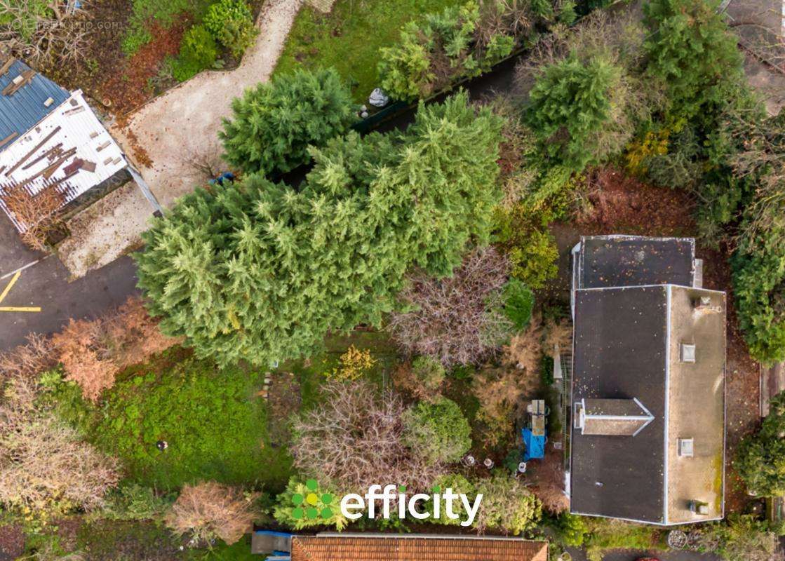
[[[301,4],[268,0],[257,21],[257,42],[238,68],[202,72],[138,109],[125,129],[112,131],[132,160],[134,142],[144,148],[152,165],[135,163],[162,206],[171,206],[203,182],[203,173],[192,162],[217,160],[221,118],[231,113],[232,98],[270,78]]]

